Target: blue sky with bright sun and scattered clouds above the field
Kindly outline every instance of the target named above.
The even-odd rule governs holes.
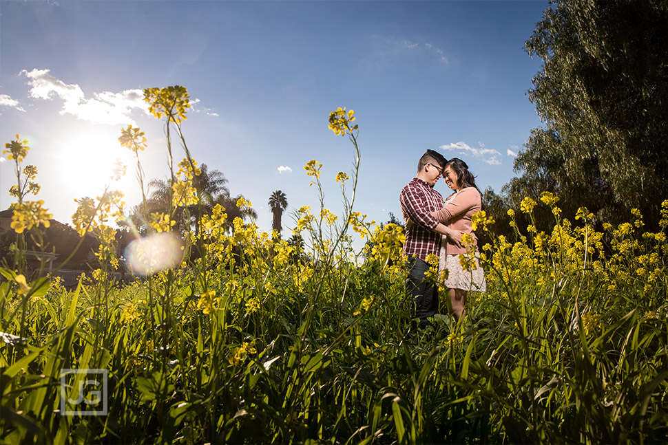
[[[146,132],[149,178],[168,173],[163,124],[146,87],[187,87],[183,132],[194,158],[229,180],[271,230],[267,200],[288,213],[317,208],[303,166],[323,164],[325,204],[340,209],[337,172],[354,151],[328,128],[355,110],[362,150],[356,210],[377,222],[401,215],[399,192],[426,149],[465,160],[497,193],[533,128],[526,91],[541,61],[524,43],[547,1],[0,1],[0,138],[31,150],[54,217],[101,194],[111,164],[129,164],[114,188],[140,202],[127,124]],[[175,158],[182,158],[177,152]],[[12,162],[0,162],[0,207],[12,202]],[[439,182],[441,193],[448,190]],[[32,195],[31,195],[32,197]],[[294,226],[283,220],[284,236]]]

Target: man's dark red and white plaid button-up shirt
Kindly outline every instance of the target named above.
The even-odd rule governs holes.
[[[406,229],[406,243],[404,244],[404,255],[417,255],[420,259],[426,259],[427,255],[439,254],[441,248],[441,234],[432,229],[438,226],[439,220],[432,217],[431,213],[441,210],[443,197],[440,193],[430,187],[425,181],[414,177],[399,195],[401,213],[404,221],[410,218],[415,224]]]

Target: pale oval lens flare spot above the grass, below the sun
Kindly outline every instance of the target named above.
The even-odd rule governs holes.
[[[133,274],[146,276],[178,265],[182,247],[182,241],[173,234],[154,233],[129,243],[124,256]]]

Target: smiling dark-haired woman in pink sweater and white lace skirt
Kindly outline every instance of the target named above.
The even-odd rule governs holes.
[[[450,289],[452,312],[455,313],[457,320],[461,320],[468,292],[471,290],[486,292],[487,290],[485,272],[479,261],[478,239],[471,225],[471,217],[482,210],[482,197],[475,185],[474,176],[468,171],[468,165],[461,159],[452,158],[446,164],[443,170],[443,180],[455,193],[448,196],[443,208],[432,215],[450,228],[468,233],[474,240],[472,248],[475,252],[475,259],[470,265],[470,270],[464,270],[459,262],[459,254],[466,254],[466,246],[458,246],[448,237],[443,237],[441,241],[439,271],[448,269],[448,279],[445,285]]]

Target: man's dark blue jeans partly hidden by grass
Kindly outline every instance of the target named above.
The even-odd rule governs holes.
[[[426,281],[424,273],[429,270],[429,264],[417,257],[408,259],[408,278],[406,279],[406,293],[413,296],[411,315],[419,318],[420,329],[431,325],[427,318],[439,312],[439,290],[436,283]]]

